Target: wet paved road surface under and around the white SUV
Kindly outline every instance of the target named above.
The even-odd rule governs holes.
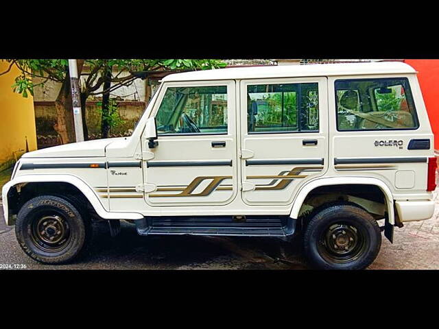
[[[438,194],[436,193],[436,199]],[[91,254],[70,265],[41,265],[19,247],[12,227],[5,226],[0,206],[0,265],[26,269],[307,269],[300,241],[220,236],[139,236],[122,222],[121,235],[109,236],[95,226]],[[370,269],[439,269],[439,205],[428,221],[395,228],[394,244],[383,237]]]

